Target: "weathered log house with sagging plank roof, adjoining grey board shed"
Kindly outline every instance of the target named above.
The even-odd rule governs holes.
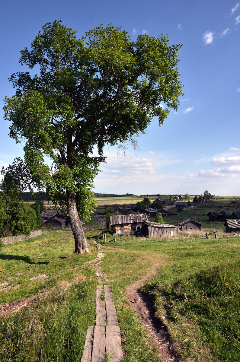
[[[145,235],[146,214],[110,216],[110,228],[116,235]]]

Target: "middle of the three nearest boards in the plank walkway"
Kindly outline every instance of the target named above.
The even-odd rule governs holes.
[[[91,362],[104,362],[104,359],[105,359],[105,327],[100,325],[95,325]]]

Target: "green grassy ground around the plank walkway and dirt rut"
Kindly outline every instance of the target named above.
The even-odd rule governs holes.
[[[97,286],[95,269],[84,262],[96,256],[93,240],[101,229],[98,220],[85,227],[88,255],[73,254],[73,236],[65,229],[44,229],[39,237],[0,249],[0,269],[10,273],[0,273],[0,283],[19,286],[0,292],[0,305],[46,293],[28,308],[1,318],[1,362],[80,362],[86,329],[95,323]],[[186,233],[160,240],[121,236],[116,243],[109,243],[109,236],[102,243],[102,268],[112,282],[125,362],[161,361],[124,298],[125,288],[153,265],[158,265],[157,274],[142,290],[153,300],[156,315],[166,316],[182,361],[240,360],[240,238],[219,235],[208,240],[189,240]],[[38,274],[47,278],[30,280]]]

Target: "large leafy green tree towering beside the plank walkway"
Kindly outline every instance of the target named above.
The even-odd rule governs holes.
[[[12,122],[10,136],[26,141],[34,181],[50,199],[66,204],[75,252],[88,251],[76,195],[78,207],[91,209],[90,188],[104,146],[136,146],[135,136],[153,117],[161,125],[169,108],[177,109],[183,94],[179,48],[163,35],[131,41],[111,24],[78,39],[76,31],[54,21],[43,26],[30,50],[21,51],[20,63],[31,72],[11,76],[16,94],[5,98],[5,119]]]

